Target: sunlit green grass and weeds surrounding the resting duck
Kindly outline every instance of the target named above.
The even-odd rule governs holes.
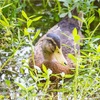
[[[66,0],[62,3],[58,0],[0,1],[0,100],[52,100],[56,93],[62,100],[100,99],[100,9],[94,1],[84,1],[82,8],[81,4],[77,0],[68,4]],[[44,67],[43,73],[38,67],[29,67],[29,56],[31,53],[34,56],[32,43],[59,22],[59,16],[71,17],[71,10],[76,6],[85,14],[81,56],[78,58],[76,53],[74,57],[74,75],[62,73],[61,81],[52,83],[49,69]]]

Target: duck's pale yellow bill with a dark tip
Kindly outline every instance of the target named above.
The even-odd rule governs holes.
[[[62,53],[62,49],[56,47],[56,51],[54,52],[55,59],[62,65],[67,65],[67,61]]]

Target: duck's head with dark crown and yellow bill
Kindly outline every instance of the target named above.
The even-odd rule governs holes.
[[[56,61],[62,65],[67,65],[67,61],[62,53],[60,37],[54,33],[49,33],[43,39],[42,51],[44,59],[48,61]]]

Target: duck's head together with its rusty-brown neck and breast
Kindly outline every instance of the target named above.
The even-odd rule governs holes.
[[[53,73],[71,73],[70,67],[62,53],[61,39],[58,35],[49,33],[39,40],[34,49],[35,65],[42,69],[42,64],[51,69]],[[29,65],[34,68],[32,59]]]

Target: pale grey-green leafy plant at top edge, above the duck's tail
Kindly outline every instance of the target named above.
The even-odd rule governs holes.
[[[96,6],[93,5],[95,0],[59,0],[63,3],[63,8],[60,11],[60,17],[65,17],[68,15],[72,17],[72,11],[77,8],[78,11],[83,11],[84,14],[90,15]]]

